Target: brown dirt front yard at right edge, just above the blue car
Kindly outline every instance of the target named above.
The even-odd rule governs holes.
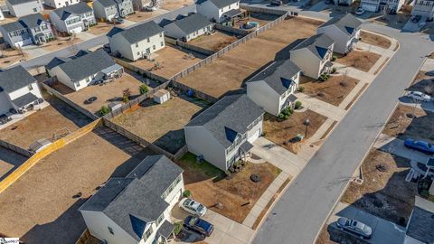
[[[410,118],[407,116],[408,114],[413,114],[416,117]],[[432,121],[434,121],[434,113],[400,104],[393,112],[382,133],[403,140],[410,137],[434,144]]]

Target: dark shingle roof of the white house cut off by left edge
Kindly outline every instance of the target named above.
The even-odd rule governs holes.
[[[33,82],[36,82],[36,79],[21,65],[15,66],[9,70],[0,71],[0,88],[8,93],[22,89]]]

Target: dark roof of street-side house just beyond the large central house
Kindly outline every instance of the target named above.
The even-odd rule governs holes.
[[[265,70],[260,71],[248,82],[264,80],[271,89],[274,89],[279,95],[288,90],[294,77],[301,69],[290,61],[274,61]]]

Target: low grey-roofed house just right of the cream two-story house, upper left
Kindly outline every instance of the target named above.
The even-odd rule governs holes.
[[[211,33],[213,23],[202,14],[191,14],[181,16],[175,21],[162,21],[160,25],[165,30],[166,36],[188,42],[205,33]]]

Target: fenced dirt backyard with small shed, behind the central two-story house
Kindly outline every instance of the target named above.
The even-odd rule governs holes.
[[[163,104],[146,100],[132,112],[114,118],[121,127],[125,127],[175,154],[185,145],[184,126],[208,105],[187,97],[175,97]]]

